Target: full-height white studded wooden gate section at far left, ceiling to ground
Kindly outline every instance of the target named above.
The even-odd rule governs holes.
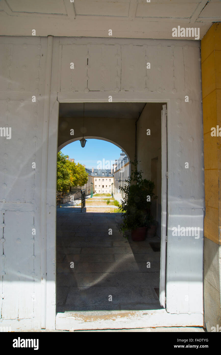
[[[3,320],[29,322],[29,329],[40,327],[40,173],[46,43],[45,38],[0,37],[0,126],[11,127],[10,140],[0,137],[4,169],[0,174],[0,217],[5,216],[1,314]],[[36,169],[32,169],[32,162]],[[34,243],[32,228],[36,229]]]

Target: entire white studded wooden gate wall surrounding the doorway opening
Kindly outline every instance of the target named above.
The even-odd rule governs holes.
[[[2,317],[14,319],[13,324],[23,320],[17,327],[55,327],[58,102],[108,102],[109,95],[115,102],[168,102],[166,308],[200,315],[204,177],[199,42],[63,37],[53,38],[52,45],[52,37],[1,37],[0,45],[1,126],[12,127],[11,140],[0,137],[1,166],[7,169],[0,175],[0,212],[5,215]],[[178,224],[200,226],[200,238],[173,237],[172,227]]]

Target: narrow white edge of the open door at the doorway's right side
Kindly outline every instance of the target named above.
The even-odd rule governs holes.
[[[161,111],[162,139],[162,220],[161,220],[161,251],[160,251],[160,304],[166,307],[166,242],[167,242],[167,110],[163,105]]]

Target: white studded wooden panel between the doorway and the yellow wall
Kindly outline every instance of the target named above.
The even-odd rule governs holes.
[[[191,105],[193,105],[192,111],[190,111]],[[168,200],[166,309],[170,313],[193,313],[196,310],[203,312],[204,190],[203,162],[200,158],[203,146],[202,138],[200,140],[198,136],[203,135],[203,129],[202,113],[198,105],[199,103],[185,102],[181,105],[181,102],[178,101],[177,104],[176,100],[171,100],[168,106],[168,196],[170,198]],[[188,144],[185,143],[186,139],[189,141]],[[189,163],[189,169],[185,169],[186,162]],[[191,167],[194,170],[190,169]],[[183,203],[184,206],[189,203],[188,210],[183,208]],[[172,228],[178,228],[178,225],[199,227],[199,238],[172,236]]]

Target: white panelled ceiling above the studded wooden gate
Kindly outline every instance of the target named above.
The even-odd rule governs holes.
[[[1,0],[0,34],[174,39],[172,28],[221,21],[220,0]],[[176,38],[175,38],[176,39]],[[180,38],[192,39],[192,38]]]

